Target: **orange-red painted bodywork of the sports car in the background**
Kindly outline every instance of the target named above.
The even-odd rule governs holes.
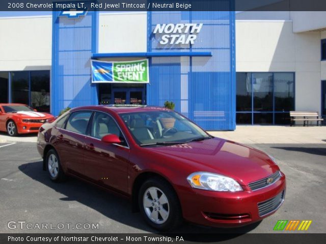
[[[18,103],[1,103],[0,104],[0,131],[7,131],[7,123],[9,120],[13,120],[17,126],[18,134],[37,133],[39,128],[44,124],[47,119],[52,119],[53,115],[49,113],[31,112],[33,115],[27,115],[22,113],[6,113],[3,106],[6,105],[22,105]],[[42,115],[40,115],[42,114]],[[44,116],[43,116],[44,115]],[[41,122],[24,122],[23,119],[41,120]],[[25,129],[24,129],[25,127]]]

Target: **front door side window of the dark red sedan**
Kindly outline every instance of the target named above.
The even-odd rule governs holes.
[[[102,139],[103,136],[111,134],[117,135],[121,140],[121,144],[127,146],[127,142],[116,121],[106,113],[95,112],[92,123],[91,136]]]

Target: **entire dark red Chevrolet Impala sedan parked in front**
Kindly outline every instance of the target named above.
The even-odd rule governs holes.
[[[160,107],[75,108],[42,125],[37,148],[51,180],[71,175],[128,197],[159,230],[183,219],[247,225],[273,214],[285,196],[273,158]]]

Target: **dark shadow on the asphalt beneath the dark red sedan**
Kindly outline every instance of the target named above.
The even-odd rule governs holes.
[[[106,192],[100,188],[88,184],[87,182],[84,182],[83,180],[75,179],[72,177],[69,177],[68,180],[65,182],[52,182],[49,179],[47,172],[42,170],[42,161],[22,164],[18,167],[18,169],[30,178],[37,180],[42,184],[46,185],[47,187],[66,196],[60,199],[53,199],[53,201],[77,201],[100,212],[102,215],[106,216],[109,219],[112,219],[114,221],[120,222],[124,225],[128,225],[133,228],[157,233],[156,230],[152,229],[145,223],[139,212],[131,212],[131,203],[123,197],[119,197],[114,193]],[[207,241],[212,241],[211,238],[213,238],[213,241],[214,238],[221,239],[221,236],[218,237],[216,235],[216,237],[214,237],[214,235],[212,235],[218,233],[232,234],[230,236],[224,235],[224,237],[222,237],[224,239],[234,238],[237,235],[241,235],[243,233],[247,233],[255,229],[259,224],[260,222],[245,227],[226,229],[210,228],[190,223],[184,223],[180,228],[169,233],[188,233],[191,234],[189,235],[189,238],[193,239],[193,241],[205,242],[203,239],[197,240],[198,236],[196,236],[195,234],[208,234]],[[209,236],[210,238],[208,238]]]

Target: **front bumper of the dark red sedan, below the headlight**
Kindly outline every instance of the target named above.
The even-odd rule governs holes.
[[[244,187],[241,192],[213,192],[193,188],[179,192],[183,217],[189,222],[213,227],[239,227],[258,222],[272,214],[282,205],[286,189],[285,175],[266,188],[251,191]],[[180,194],[181,193],[181,194]],[[283,193],[283,194],[282,194]],[[270,211],[259,214],[258,203],[281,197],[279,204]],[[270,205],[267,203],[267,206]],[[260,210],[260,212],[262,212]]]

